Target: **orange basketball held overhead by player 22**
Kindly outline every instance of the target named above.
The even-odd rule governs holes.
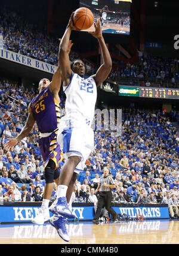
[[[73,24],[79,30],[88,29],[94,22],[92,11],[88,8],[82,7],[75,11],[73,16]]]

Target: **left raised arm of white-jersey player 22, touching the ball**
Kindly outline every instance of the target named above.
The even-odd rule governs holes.
[[[59,63],[61,67],[61,77],[64,82],[64,86],[67,86],[70,82],[72,77],[73,71],[70,68],[70,59],[68,53],[69,41],[70,41],[70,34],[72,30],[76,30],[75,26],[73,26],[73,15],[72,13],[69,23],[66,27],[66,31],[64,32],[63,37],[61,38],[60,42],[60,50],[59,50]]]

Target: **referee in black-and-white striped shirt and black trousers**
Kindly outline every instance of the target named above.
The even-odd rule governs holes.
[[[109,170],[106,167],[104,167],[103,175],[100,177],[100,184],[95,190],[95,192],[97,192],[98,190],[101,189],[99,192],[100,197],[98,199],[97,210],[95,212],[94,219],[92,220],[94,224],[99,224],[98,219],[100,217],[101,209],[104,206],[106,207],[106,210],[112,215],[112,221],[118,221],[118,214],[115,212],[115,210],[113,210],[111,206],[112,189],[115,187],[115,181],[109,175]]]

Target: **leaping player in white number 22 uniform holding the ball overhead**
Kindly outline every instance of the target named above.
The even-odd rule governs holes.
[[[109,76],[112,68],[112,60],[101,32],[100,19],[94,24],[95,31],[90,32],[90,34],[97,38],[100,44],[103,64],[98,68],[97,73],[88,79],[84,79],[84,62],[76,59],[70,65],[67,46],[72,30],[76,30],[75,26],[73,26],[73,15],[74,13],[72,13],[69,24],[61,39],[59,52],[61,77],[63,80],[63,89],[66,94],[66,116],[60,120],[57,141],[60,147],[63,148],[66,162],[60,172],[57,200],[50,207],[51,212],[55,214],[51,218],[51,224],[54,225],[57,231],[59,231],[57,216],[59,217],[59,221],[61,221],[61,216],[59,215],[62,215],[63,218],[70,218],[72,216],[72,212],[66,203],[66,191],[74,175],[74,171],[78,173],[78,171],[84,170],[84,163],[94,148],[94,132],[91,129],[91,123],[94,118],[97,86],[100,86]],[[60,230],[60,233],[66,234],[65,226],[63,230]],[[61,237],[63,238],[63,234]]]

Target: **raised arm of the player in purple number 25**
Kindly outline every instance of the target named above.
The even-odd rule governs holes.
[[[61,38],[58,39],[59,41],[61,41]],[[72,40],[69,40],[69,45],[68,45],[68,49],[67,49],[67,53],[70,53],[70,50],[73,46]],[[59,101],[59,97],[58,97],[58,92],[60,91],[60,86],[61,86],[61,68],[60,68],[60,46],[59,46],[59,52],[58,52],[58,67],[57,70],[55,71],[54,75],[53,75],[53,79],[49,85],[50,91],[53,93],[53,95],[55,96],[56,100]]]

